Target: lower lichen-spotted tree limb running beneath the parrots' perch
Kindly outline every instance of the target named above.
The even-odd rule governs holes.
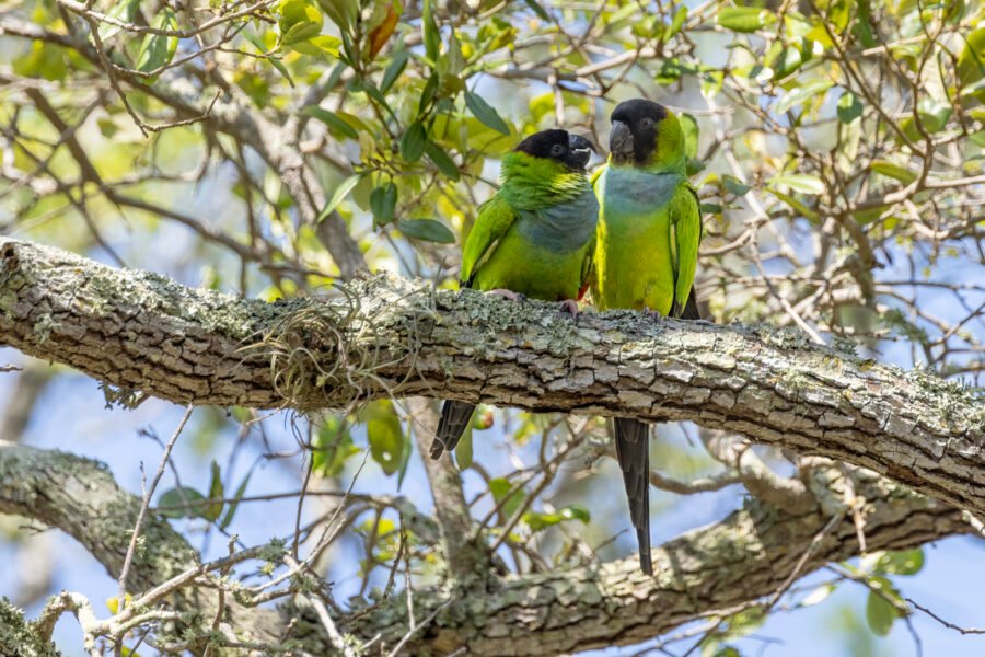
[[[838,483],[839,475],[834,476],[826,489],[837,498],[845,485]],[[855,494],[867,500],[865,532],[870,551],[902,550],[972,531],[960,511],[934,499],[871,473],[854,472],[853,477]],[[140,499],[119,489],[95,461],[0,445],[0,512],[61,528],[114,577],[139,508]],[[135,593],[197,565],[194,550],[165,520],[148,518],[143,531],[148,552],[138,552],[131,570]],[[822,540],[797,569],[819,534]],[[467,647],[470,655],[533,656],[639,643],[695,619],[762,602],[791,576],[807,575],[858,552],[855,525],[846,507],[837,503],[789,514],[752,500],[721,522],[654,550],[654,578],[639,573],[634,556],[589,568],[510,577],[488,589],[416,590],[418,621],[450,599],[453,602],[415,635],[407,654]],[[200,596],[202,589],[198,591]],[[201,601],[200,597],[186,599]],[[398,598],[369,615],[337,622],[340,630],[362,641],[381,633],[383,644],[392,646],[406,632],[406,609]],[[278,629],[282,631],[298,615],[291,607],[281,609],[279,622],[270,610],[234,611],[228,614],[234,630],[271,642],[277,642]],[[317,624],[304,621],[297,624],[291,638],[313,654],[325,654],[328,645]]]

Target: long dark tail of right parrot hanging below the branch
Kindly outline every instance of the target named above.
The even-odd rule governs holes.
[[[629,517],[639,542],[639,567],[653,574],[650,556],[650,427],[631,417],[615,418],[616,456],[623,469]]]

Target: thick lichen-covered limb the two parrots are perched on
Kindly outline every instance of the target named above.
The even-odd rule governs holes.
[[[0,244],[0,341],[178,403],[301,410],[422,395],[693,420],[874,470],[985,516],[985,401],[765,326],[716,326],[373,278],[265,303]]]

